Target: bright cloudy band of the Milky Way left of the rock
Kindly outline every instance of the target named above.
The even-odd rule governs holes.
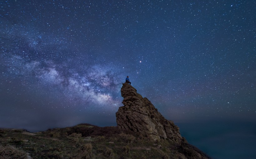
[[[74,69],[63,73],[61,64],[53,61],[24,62],[20,56],[12,56],[10,69],[17,76],[35,78],[39,84],[54,86],[65,92],[67,98],[81,98],[85,103],[93,102],[98,105],[115,105],[117,102],[113,92],[119,92],[121,79],[103,65],[84,66],[85,71],[76,72]],[[33,76],[31,76],[33,75]]]

